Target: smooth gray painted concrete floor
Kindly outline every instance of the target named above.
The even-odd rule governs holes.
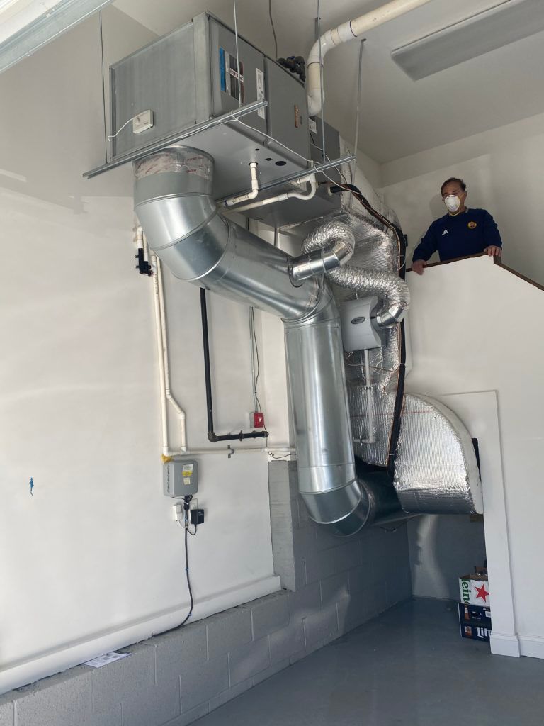
[[[196,726],[543,726],[544,661],[492,656],[455,605],[411,600]]]

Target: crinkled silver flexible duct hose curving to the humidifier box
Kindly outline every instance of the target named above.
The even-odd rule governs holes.
[[[305,253],[314,253],[316,250],[328,248],[330,237],[337,234],[337,228],[343,227],[350,232],[354,240],[353,232],[346,224],[340,222],[328,222],[322,227],[314,229],[304,240],[302,249]],[[336,237],[334,237],[336,240]],[[347,239],[347,233],[345,233]],[[347,244],[347,242],[346,242]],[[355,240],[353,242],[355,244]],[[350,256],[353,254],[351,248]],[[375,272],[374,270],[360,269],[350,265],[342,266],[341,269],[331,269],[326,272],[331,282],[340,287],[347,287],[350,290],[357,290],[366,295],[377,295],[382,302],[376,323],[379,327],[392,327],[397,325],[408,311],[410,306],[410,290],[408,285],[400,277],[391,272]]]

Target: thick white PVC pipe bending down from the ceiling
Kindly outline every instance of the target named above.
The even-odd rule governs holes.
[[[372,10],[371,12],[360,15],[354,20],[348,20],[347,23],[342,23],[333,30],[327,30],[323,33],[321,38],[316,41],[308,60],[306,61],[306,73],[308,76],[307,88],[308,88],[308,115],[315,116],[321,111],[321,65],[323,65],[323,59],[327,52],[335,46],[347,43],[347,41],[353,40],[353,38],[360,37],[363,33],[371,28],[376,28],[382,23],[387,23],[388,20],[393,20],[395,17],[404,15],[405,12],[416,9],[425,5],[429,0],[392,0],[386,5]],[[321,44],[321,62],[319,54],[319,45]],[[323,94],[324,97],[324,94]]]

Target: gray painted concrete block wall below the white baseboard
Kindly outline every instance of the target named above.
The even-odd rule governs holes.
[[[269,483],[284,590],[0,696],[0,726],[186,726],[411,597],[405,526],[334,537],[308,518],[294,462],[272,462]]]

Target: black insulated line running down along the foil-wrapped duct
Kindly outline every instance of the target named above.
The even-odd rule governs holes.
[[[382,222],[384,227],[387,227],[394,232],[397,237],[399,245],[399,275],[402,280],[406,279],[406,238],[403,234],[403,230],[393,224],[392,221],[384,217],[378,211],[374,209],[371,203],[363,197],[363,193],[355,187],[354,184],[334,184],[331,186],[331,192],[338,193],[342,190],[347,190],[353,194],[356,200],[371,213],[374,219]],[[395,407],[393,407],[393,423],[391,426],[389,450],[387,452],[387,473],[390,477],[395,474],[395,460],[397,458],[397,448],[400,438],[400,426],[401,426],[401,415],[404,407],[404,383],[406,377],[406,340],[404,330],[404,320],[400,322],[400,364],[397,376],[397,391],[395,393]]]

